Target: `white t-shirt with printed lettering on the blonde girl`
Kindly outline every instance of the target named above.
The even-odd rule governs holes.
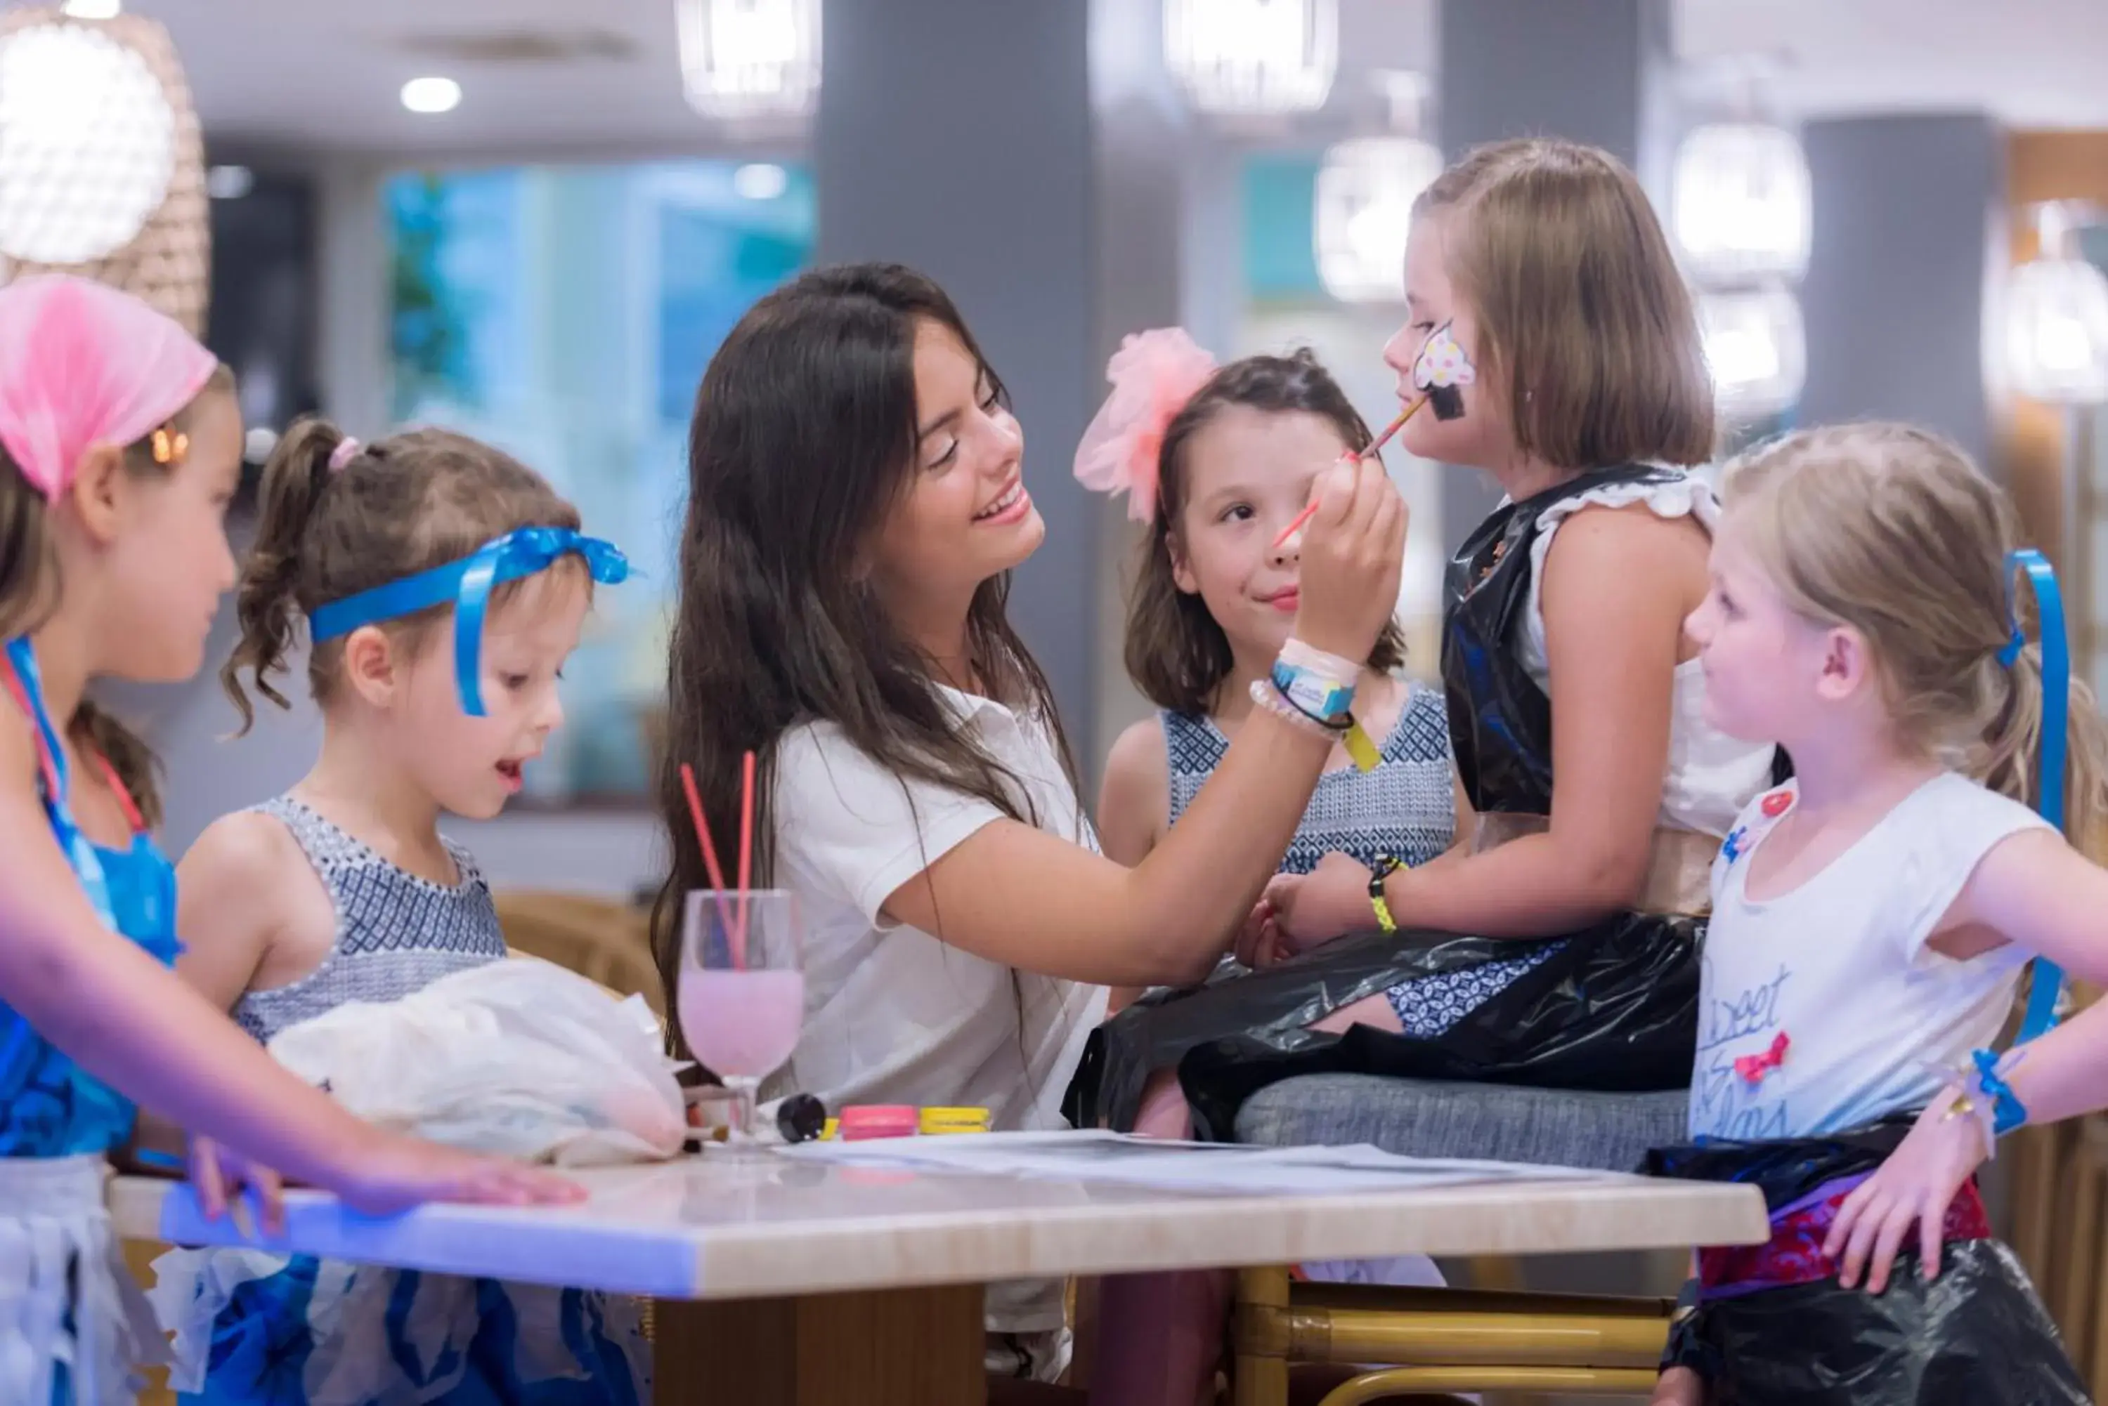
[[[1796,890],[1754,902],[1750,856],[1794,782],[1741,814],[1712,875],[1691,1134],[1807,1138],[1920,1109],[2013,1008],[2030,953],[1956,961],[1925,940],[2000,841],[2047,828],[1952,772],[1925,782]]]

